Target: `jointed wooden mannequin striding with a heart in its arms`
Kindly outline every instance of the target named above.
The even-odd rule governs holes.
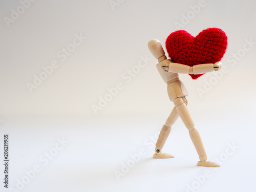
[[[157,39],[152,39],[148,42],[148,49],[155,58],[158,59],[157,69],[162,76],[164,82],[167,83],[168,96],[171,101],[174,102],[174,109],[167,118],[165,124],[162,127],[160,135],[158,137],[154,158],[174,158],[173,155],[162,153],[164,143],[172,129],[172,125],[180,117],[189,131],[189,136],[197,150],[200,161],[198,166],[206,167],[219,167],[215,162],[206,161],[207,155],[204,149],[204,145],[198,130],[195,127],[195,123],[190,116],[187,109],[186,96],[187,91],[184,84],[180,81],[178,73],[186,74],[202,74],[212,71],[218,71],[222,64],[220,61],[216,63],[200,64],[193,67],[186,66],[180,63],[174,63],[172,60],[167,59],[162,48],[161,42]]]

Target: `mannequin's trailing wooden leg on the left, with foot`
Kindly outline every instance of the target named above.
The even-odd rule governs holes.
[[[155,148],[155,154],[154,158],[173,158],[173,155],[162,153],[162,148],[164,146],[165,141],[167,140],[170,130],[172,129],[172,125],[175,123],[175,121],[178,119],[179,115],[177,113],[176,107],[174,107],[173,111],[170,113],[168,119],[166,120],[165,124],[163,125],[161,132],[159,134],[156,148]]]

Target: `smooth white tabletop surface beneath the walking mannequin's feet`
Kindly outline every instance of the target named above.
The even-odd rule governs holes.
[[[25,170],[38,164],[41,171],[22,191],[187,191],[187,186],[197,182],[196,177],[205,170],[210,177],[203,180],[196,191],[252,191],[255,188],[256,132],[252,116],[237,120],[219,117],[219,121],[209,116],[196,123],[208,159],[221,159],[218,168],[196,166],[196,150],[180,119],[163,149],[172,153],[173,159],[152,158],[154,142],[150,138],[155,139],[161,128],[159,122],[164,118],[148,115],[129,116],[129,120],[119,116],[118,119],[6,120],[2,132],[10,135],[10,186],[15,187],[16,179],[22,180]],[[39,157],[51,151],[58,138],[69,143],[44,165]],[[239,148],[226,152],[229,144]],[[144,156],[118,180],[115,170],[121,171],[123,163],[131,161],[130,155],[138,153],[140,148],[145,150]],[[223,155],[226,153],[229,155]]]

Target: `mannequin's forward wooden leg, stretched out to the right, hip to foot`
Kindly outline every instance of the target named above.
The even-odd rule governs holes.
[[[198,130],[195,127],[195,123],[193,119],[191,118],[191,115],[187,109],[187,100],[185,97],[178,97],[174,100],[174,104],[176,106],[176,110],[182,119],[183,123],[187,127],[189,131],[189,136],[197,150],[197,153],[199,155],[200,161],[198,162],[199,166],[211,166],[211,167],[217,167],[219,166],[217,163],[206,161],[207,155],[204,149],[204,145],[201,139],[201,136],[198,132]]]

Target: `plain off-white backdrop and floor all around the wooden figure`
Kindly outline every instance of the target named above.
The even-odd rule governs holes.
[[[256,2],[205,0],[195,13],[199,2],[119,0],[113,7],[108,0],[35,1],[8,23],[6,17],[22,11],[22,4],[1,1],[0,155],[4,134],[9,134],[9,187],[16,188],[26,170],[41,168],[21,190],[8,190],[1,182],[1,191],[255,189]],[[184,15],[190,17],[187,24]],[[152,158],[156,135],[174,105],[147,42],[157,38],[164,45],[182,21],[179,29],[193,36],[218,27],[228,37],[222,59],[226,70],[219,79],[214,73],[197,80],[180,75],[208,159],[222,160],[217,169],[196,166],[196,150],[180,119],[163,148],[175,158]],[[76,34],[86,39],[61,61],[57,53],[67,49]],[[247,41],[254,44],[250,47]],[[145,56],[151,60],[126,82],[127,70]],[[27,84],[53,60],[58,67],[31,93]],[[99,97],[118,82],[123,89],[94,113],[92,105],[99,105]],[[198,90],[210,82],[213,85],[200,95]],[[62,138],[69,143],[44,165],[40,157],[53,153]],[[230,150],[232,144],[239,148]],[[118,179],[115,172],[134,162],[131,155],[140,148],[143,156]],[[2,162],[0,168],[3,178]],[[203,179],[205,171],[209,177]]]

